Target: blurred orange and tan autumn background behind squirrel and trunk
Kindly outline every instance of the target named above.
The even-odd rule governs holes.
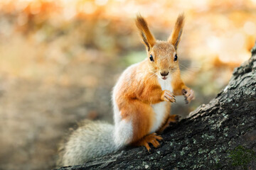
[[[135,16],[166,40],[181,12],[178,57],[197,97],[173,104],[184,118],[250,57],[255,0],[0,0],[0,169],[52,169],[69,128],[112,123],[112,87],[146,57]]]

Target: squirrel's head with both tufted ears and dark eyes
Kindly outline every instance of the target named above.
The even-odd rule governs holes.
[[[174,30],[167,41],[156,40],[151,34],[146,20],[138,15],[136,25],[139,34],[147,50],[147,60],[149,62],[150,71],[161,79],[167,79],[170,74],[179,71],[177,48],[178,42],[181,40],[184,16],[179,15]]]

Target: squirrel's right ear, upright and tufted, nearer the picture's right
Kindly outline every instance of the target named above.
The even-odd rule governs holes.
[[[170,37],[168,38],[168,42],[174,45],[175,50],[178,48],[178,42],[181,40],[182,29],[184,25],[184,14],[181,13],[175,23],[174,30],[172,31]]]

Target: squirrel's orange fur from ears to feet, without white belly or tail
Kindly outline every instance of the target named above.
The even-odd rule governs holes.
[[[183,18],[183,15],[178,16],[169,40],[160,41],[154,39],[145,19],[142,16],[137,16],[137,27],[144,45],[148,48],[148,55],[153,57],[154,61],[152,62],[147,57],[146,60],[125,70],[115,87],[118,93],[114,98],[121,118],[132,122],[133,135],[130,140],[132,145],[144,145],[146,149],[150,149],[149,143],[154,147],[159,146],[157,140],[161,140],[161,138],[154,134],[149,135],[149,133],[157,116],[151,105],[168,99],[165,98],[165,90],[161,89],[159,84],[162,72],[168,72],[169,76],[171,75],[174,95],[183,94],[183,89],[190,90],[181,80],[178,60],[174,61],[176,47],[182,33]],[[175,99],[170,98],[168,99],[169,103],[165,105],[165,114],[161,120],[159,132],[162,132],[174,120],[174,116],[169,116],[169,113],[171,102],[174,102]]]

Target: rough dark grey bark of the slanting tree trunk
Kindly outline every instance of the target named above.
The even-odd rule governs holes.
[[[228,86],[171,125],[161,147],[127,147],[71,169],[256,169],[256,45]]]

